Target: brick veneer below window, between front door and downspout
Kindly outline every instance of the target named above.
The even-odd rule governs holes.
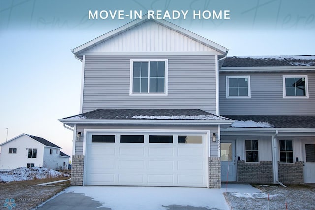
[[[244,160],[239,160],[237,161],[237,179],[238,182],[272,184],[272,162],[246,163]]]

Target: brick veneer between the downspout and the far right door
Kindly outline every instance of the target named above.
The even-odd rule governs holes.
[[[278,178],[283,184],[304,184],[303,162],[279,163]]]

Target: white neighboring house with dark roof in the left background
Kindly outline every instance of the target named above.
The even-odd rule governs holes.
[[[21,134],[1,146],[0,169],[46,167],[67,169],[70,156],[61,147],[41,137]]]

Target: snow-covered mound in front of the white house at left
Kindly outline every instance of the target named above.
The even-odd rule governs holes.
[[[65,173],[60,173],[58,171],[44,168],[44,167],[20,167],[14,170],[1,170],[0,171],[0,183],[10,182],[10,181],[26,181],[35,179],[46,179],[46,178],[56,178],[56,177],[66,177],[69,176]]]

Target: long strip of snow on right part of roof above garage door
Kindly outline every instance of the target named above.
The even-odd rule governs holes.
[[[173,116],[148,116],[148,115],[134,115],[132,118],[135,119],[150,119],[150,120],[222,120],[222,117],[216,115],[197,115],[197,116],[186,116],[186,115],[173,115]]]

